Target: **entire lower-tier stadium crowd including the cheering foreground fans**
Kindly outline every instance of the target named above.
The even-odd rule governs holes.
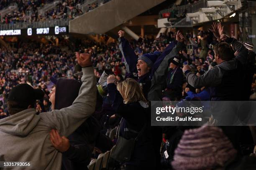
[[[248,156],[255,143],[247,126],[151,126],[148,102],[256,100],[252,44],[228,37],[220,23],[197,37],[178,31],[129,42],[125,32],[118,35],[118,41],[108,45],[79,44],[76,55],[74,47],[1,47],[0,137],[13,145],[1,143],[0,158],[30,158],[42,169],[75,170],[115,145],[112,157],[120,163],[112,160],[111,166],[125,170],[256,168],[255,155]],[[81,70],[82,77],[74,76]],[[60,78],[66,76],[69,79]],[[49,77],[51,92],[45,84]],[[102,77],[106,82],[97,85],[96,94],[95,79],[101,82]],[[9,152],[15,146],[26,148],[24,141],[27,145],[30,138],[37,145],[20,150],[20,155]],[[38,146],[42,149],[35,151]],[[33,158],[27,155],[32,152]]]

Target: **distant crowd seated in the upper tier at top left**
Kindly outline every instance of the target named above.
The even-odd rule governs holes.
[[[18,4],[18,10],[11,13],[6,13],[1,16],[1,24],[15,24],[15,23],[33,23],[37,21],[46,21],[54,19],[73,19],[84,12],[80,9],[78,4],[82,4],[84,0],[60,0],[59,3],[52,9],[47,10],[44,14],[38,13],[38,8],[44,7],[46,3],[51,3],[53,0],[11,0],[3,1],[0,7],[6,7],[11,2]],[[108,1],[104,1],[108,2]],[[98,7],[98,3],[91,3],[87,5],[88,12]],[[26,15],[30,11],[31,15]]]

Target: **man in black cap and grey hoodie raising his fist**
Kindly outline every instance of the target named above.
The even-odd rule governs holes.
[[[43,97],[44,92],[28,84],[17,85],[11,90],[8,110],[12,116],[0,120],[1,161],[30,160],[31,166],[39,169],[61,169],[61,153],[52,147],[49,138],[51,128],[69,136],[95,110],[96,86],[90,55],[81,54],[77,60],[86,68],[83,68],[79,96],[70,107],[36,115],[35,100]],[[18,150],[18,153],[10,150]]]

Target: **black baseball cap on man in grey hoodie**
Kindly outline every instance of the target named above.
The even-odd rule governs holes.
[[[18,102],[20,107],[28,107],[31,103],[44,97],[42,89],[34,89],[27,83],[18,84],[10,91],[8,101]]]

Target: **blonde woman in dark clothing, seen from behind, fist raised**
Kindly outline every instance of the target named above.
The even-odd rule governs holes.
[[[115,76],[110,75],[108,77],[110,98],[117,94],[124,101],[124,103],[119,102],[118,105],[115,105],[116,114],[123,117],[119,125],[120,136],[127,140],[138,137],[131,159],[124,162],[125,170],[156,169],[156,158],[158,157],[156,153],[159,153],[160,145],[154,145],[153,140],[161,141],[161,135],[151,133],[150,109],[146,98],[143,96],[141,87],[136,80],[131,78],[118,83],[117,87],[114,84],[115,82]],[[117,90],[120,93],[115,92]],[[115,102],[112,103],[114,104]]]

